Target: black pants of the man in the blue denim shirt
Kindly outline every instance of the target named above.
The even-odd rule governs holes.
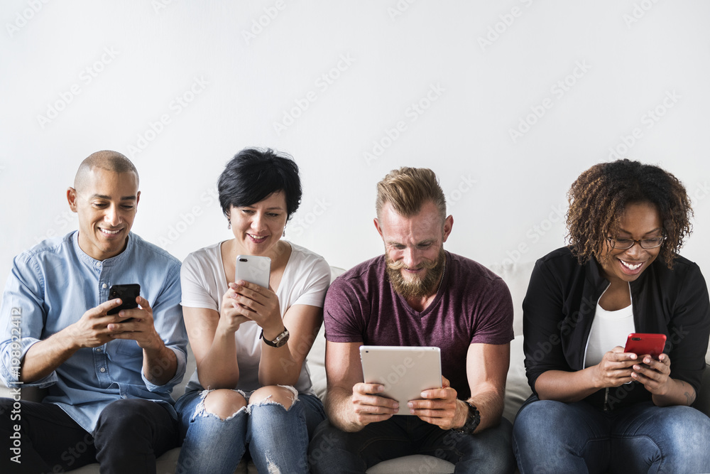
[[[109,404],[92,436],[57,405],[0,398],[0,473],[62,473],[97,461],[102,474],[155,473],[155,458],[178,442],[177,421],[148,400]]]

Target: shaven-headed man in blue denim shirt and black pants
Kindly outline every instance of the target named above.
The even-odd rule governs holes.
[[[79,230],[18,255],[0,306],[0,472],[63,472],[99,462],[102,473],[155,473],[178,446],[170,397],[185,374],[187,334],[180,262],[131,233],[138,171],[98,151],[67,189]],[[134,309],[109,298],[139,284]],[[47,389],[41,403],[21,387]]]

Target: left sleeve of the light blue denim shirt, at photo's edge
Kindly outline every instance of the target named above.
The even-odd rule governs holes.
[[[0,378],[8,387],[18,387],[21,362],[42,338],[47,318],[43,284],[38,264],[31,257],[19,255],[14,259],[0,306]],[[52,372],[22,385],[43,388],[57,380],[57,373]]]

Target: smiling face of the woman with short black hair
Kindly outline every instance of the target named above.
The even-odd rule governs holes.
[[[238,251],[249,255],[268,254],[283,235],[287,218],[283,191],[272,193],[252,205],[232,206],[229,222]]]

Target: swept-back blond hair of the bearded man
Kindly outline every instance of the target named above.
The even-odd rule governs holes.
[[[432,202],[439,209],[442,221],[446,219],[446,197],[439,186],[434,171],[429,168],[403,166],[390,171],[377,183],[377,216],[383,205],[390,203],[395,212],[404,217],[417,215],[425,203]]]

